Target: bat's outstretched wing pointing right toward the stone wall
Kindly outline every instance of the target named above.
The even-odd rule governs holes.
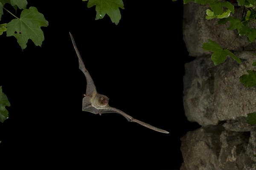
[[[124,116],[129,122],[136,122],[136,123],[138,123],[140,125],[148,127],[149,129],[155,130],[157,132],[169,133],[166,130],[154,127],[154,126],[149,125],[149,124],[147,124],[145,122],[141,122],[140,120],[134,119],[133,117],[129,116],[128,114],[126,114],[123,111],[120,111],[119,109],[116,109],[116,108],[109,107],[108,109],[102,109],[102,110],[98,110],[98,111],[99,111],[99,113],[119,113],[122,116]]]

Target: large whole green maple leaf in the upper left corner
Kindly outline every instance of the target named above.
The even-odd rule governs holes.
[[[26,48],[26,44],[31,39],[36,46],[42,45],[44,41],[44,33],[41,26],[48,26],[48,21],[44,15],[39,13],[37,8],[30,7],[24,9],[19,19],[13,19],[7,24],[7,37],[14,36],[22,49]]]

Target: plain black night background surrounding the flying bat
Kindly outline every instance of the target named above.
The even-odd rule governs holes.
[[[35,6],[49,21],[41,27],[42,47],[29,40],[22,51],[15,37],[0,36],[0,85],[11,103],[0,123],[0,155],[9,167],[180,168],[180,137],[199,127],[183,110],[184,63],[191,58],[182,1],[123,2],[116,26],[107,15],[95,20],[95,7],[82,0],[28,0],[27,8]],[[11,19],[4,11],[0,23]],[[116,113],[81,111],[86,78],[69,32],[109,104],[169,134]]]

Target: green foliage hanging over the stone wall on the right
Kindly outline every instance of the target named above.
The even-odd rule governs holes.
[[[206,19],[219,19],[218,24],[225,24],[229,22],[230,26],[227,30],[236,30],[239,36],[246,36],[249,42],[254,42],[256,39],[256,28],[253,28],[253,24],[256,22],[256,0],[237,0],[239,6],[244,6],[241,19],[230,16],[231,12],[234,14],[234,6],[228,1],[222,0],[183,0],[183,4],[195,2],[202,5],[209,4],[210,9],[206,11]],[[251,8],[252,7],[252,8]],[[235,39],[236,40],[236,39]],[[233,42],[235,41],[233,40]],[[233,43],[232,42],[232,43]],[[231,44],[232,44],[231,43]],[[241,63],[240,59],[236,57],[228,49],[221,48],[218,43],[209,40],[203,44],[203,48],[208,51],[212,51],[211,59],[215,65],[224,62],[227,59],[227,55],[236,60],[236,62]],[[256,55],[256,54],[254,54]],[[256,66],[256,60],[252,64]],[[248,70],[248,74],[244,74],[240,77],[240,82],[246,87],[256,86],[256,71]],[[256,125],[256,112],[248,113],[246,117],[247,123],[251,125]],[[256,157],[256,154],[253,155]]]

